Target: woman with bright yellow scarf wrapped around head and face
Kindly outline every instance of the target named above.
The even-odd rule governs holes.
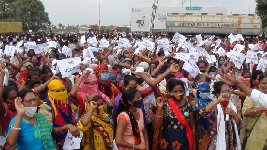
[[[59,79],[52,80],[48,84],[48,95],[39,106],[39,113],[42,113],[48,121],[53,124],[52,136],[56,137],[56,144],[62,149],[70,131],[73,136],[79,136],[80,132],[75,126],[75,114],[78,105],[73,99],[68,98],[65,82]]]

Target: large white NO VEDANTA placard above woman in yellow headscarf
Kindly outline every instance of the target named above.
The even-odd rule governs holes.
[[[57,64],[59,66],[59,71],[61,72],[62,78],[69,77],[76,72],[81,72],[80,63],[80,57],[59,60]]]

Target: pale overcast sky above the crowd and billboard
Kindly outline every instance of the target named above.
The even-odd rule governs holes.
[[[98,24],[98,0],[41,0],[52,24]],[[181,1],[181,0],[180,0]],[[183,0],[184,1],[184,0]],[[183,7],[189,6],[185,0]],[[227,7],[227,13],[249,14],[250,0],[191,0],[191,6]],[[131,7],[152,7],[153,0],[100,0],[100,26],[130,24]],[[158,7],[181,7],[179,0],[159,0]],[[251,0],[251,14],[256,2]],[[151,12],[152,13],[152,12]]]

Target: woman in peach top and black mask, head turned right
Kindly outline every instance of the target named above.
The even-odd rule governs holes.
[[[116,144],[121,149],[149,149],[148,134],[140,109],[143,99],[136,88],[122,93],[117,112]]]

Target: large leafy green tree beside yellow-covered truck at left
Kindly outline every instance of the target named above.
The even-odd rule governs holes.
[[[6,8],[7,18],[21,20],[23,30],[47,29],[51,24],[48,13],[39,0],[16,0],[14,3],[8,3]]]

